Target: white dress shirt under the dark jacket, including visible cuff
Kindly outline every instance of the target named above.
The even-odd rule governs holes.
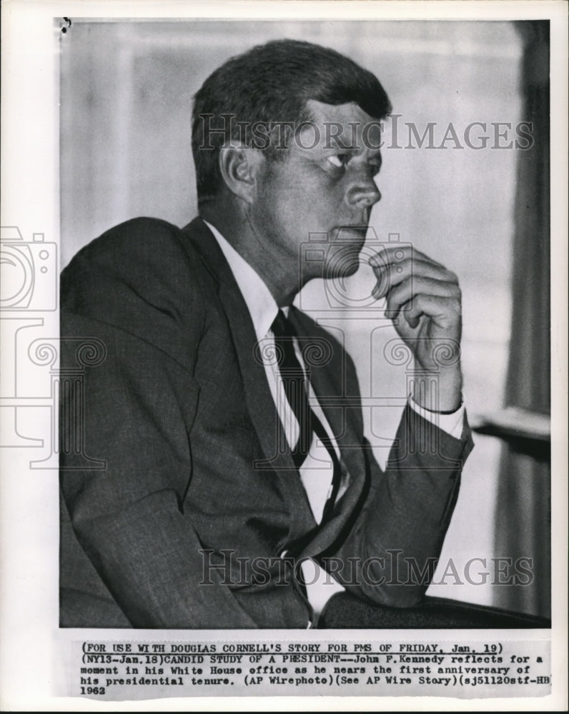
[[[247,263],[247,261],[245,261],[244,258],[237,253],[233,246],[226,241],[222,234],[219,233],[217,228],[212,226],[211,223],[207,223],[207,221],[204,221],[204,223],[206,223],[209,230],[214,234],[217,242],[219,243],[219,247],[223,251],[227,263],[229,263],[229,268],[231,268],[235,281],[237,282],[237,286],[239,287],[239,291],[241,291],[244,301],[247,304],[254,326],[254,331],[257,336],[257,341],[262,343],[263,346],[272,346],[274,348],[274,336],[271,331],[271,326],[274,318],[277,316],[279,306],[277,306],[277,303],[274,301],[269,288],[259,274],[254,271],[249,263]],[[287,315],[288,308],[283,308],[283,312]],[[270,354],[269,349],[264,349],[260,352],[263,355]],[[305,369],[305,363],[302,360],[302,354],[300,353],[296,340],[295,353],[300,365],[303,369]],[[269,389],[282,423],[284,436],[286,437],[290,448],[293,448],[300,436],[300,426],[284,392],[284,385],[279,373],[279,368],[274,360],[270,361],[267,359],[264,361],[264,371],[267,375]],[[317,418],[320,419],[320,422],[325,428],[327,435],[330,437],[332,446],[335,448],[337,456],[340,460],[340,449],[338,448],[332,429],[330,428],[330,424],[328,423],[327,418],[318,403],[316,395],[312,390],[312,385],[308,380],[307,396],[312,411],[315,413]],[[462,436],[462,423],[464,419],[463,406],[460,406],[460,408],[452,414],[440,414],[432,413],[423,409],[417,405],[411,397],[409,398],[409,402],[410,406],[415,409],[415,411],[420,413],[422,417],[432,423],[436,423],[437,426],[439,426],[439,428],[443,431],[447,431],[447,433],[450,433],[450,435],[455,438],[460,438],[460,436]],[[340,463],[342,464],[342,478],[337,498],[342,496],[342,493],[345,492],[349,485],[349,474],[345,471],[345,468],[343,468],[342,461],[340,461]],[[299,469],[299,473],[302,486],[305,488],[307,499],[310,503],[310,508],[312,509],[312,514],[317,523],[322,521],[322,513],[324,511],[325,503],[332,488],[333,471],[334,467],[332,465],[332,459],[330,458],[327,448],[324,446],[322,441],[320,441],[320,439],[313,434],[310,449],[304,463]],[[284,555],[284,553],[282,555]],[[322,612],[324,605],[332,597],[332,595],[334,595],[334,593],[341,592],[344,588],[337,582],[337,580],[335,580],[335,578],[333,578],[332,575],[326,573],[325,570],[320,568],[320,565],[318,565],[315,560],[303,561],[301,563],[301,568],[303,578],[305,579],[308,601],[310,602],[312,609],[315,611],[315,614],[319,615]]]

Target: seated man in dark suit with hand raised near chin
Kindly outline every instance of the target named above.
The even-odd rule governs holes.
[[[69,447],[71,384],[62,626],[306,628],[344,590],[422,598],[472,446],[457,278],[410,248],[373,261],[374,296],[438,385],[415,381],[385,472],[350,356],[292,305],[357,269],[389,111],[375,76],[332,50],[279,41],[229,60],[195,97],[199,217],[128,221],[63,271],[62,368],[74,338],[104,346],[81,438],[105,468]]]

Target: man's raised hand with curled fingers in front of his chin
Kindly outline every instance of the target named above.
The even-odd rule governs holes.
[[[396,259],[404,251],[404,258]],[[460,371],[461,293],[458,278],[414,248],[387,246],[370,258],[377,284],[372,297],[386,298],[385,316],[412,349],[421,371],[438,374],[438,398],[415,381],[415,401],[431,411],[455,411],[462,401]]]

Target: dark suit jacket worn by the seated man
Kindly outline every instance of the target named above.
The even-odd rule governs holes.
[[[62,390],[62,626],[305,628],[310,605],[292,577],[305,555],[339,558],[335,570],[352,558],[336,577],[357,597],[421,598],[427,583],[397,583],[387,551],[419,568],[439,554],[467,426],[457,440],[407,408],[383,473],[363,436],[350,357],[300,311],[290,318],[332,352],[311,379],[350,486],[321,526],[290,452],[277,451],[252,321],[207,226],[138,218],[65,268],[62,371],[75,365],[77,337],[98,338],[106,358]],[[77,446],[69,405],[79,389]],[[436,448],[422,448],[425,438]],[[85,468],[81,451],[106,468]],[[283,550],[295,559],[279,560]]]

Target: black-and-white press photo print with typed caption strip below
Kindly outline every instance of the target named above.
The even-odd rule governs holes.
[[[45,20],[0,406],[56,696],[551,695],[563,15],[375,5]]]

